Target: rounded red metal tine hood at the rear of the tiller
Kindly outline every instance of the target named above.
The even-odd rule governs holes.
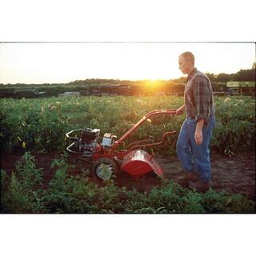
[[[161,166],[144,150],[132,150],[126,154],[121,170],[134,177],[154,171],[159,178],[164,178]]]

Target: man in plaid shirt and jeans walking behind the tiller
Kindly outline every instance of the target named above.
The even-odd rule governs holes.
[[[213,91],[206,74],[194,68],[192,53],[181,54],[178,65],[183,74],[188,74],[185,104],[176,110],[176,114],[186,110],[176,145],[184,169],[178,182],[203,192],[208,190],[211,178],[209,144],[215,122]]]

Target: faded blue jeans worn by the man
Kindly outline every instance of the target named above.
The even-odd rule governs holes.
[[[215,118],[210,117],[209,122],[202,127],[202,145],[196,144],[194,132],[197,122],[187,117],[182,124],[178,135],[176,151],[185,171],[195,171],[203,182],[209,182],[210,170],[210,137],[214,129]]]

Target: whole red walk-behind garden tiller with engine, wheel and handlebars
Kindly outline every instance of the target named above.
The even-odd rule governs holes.
[[[71,130],[66,137],[73,140],[66,148],[71,154],[92,165],[93,174],[97,178],[106,181],[112,174],[118,171],[125,171],[133,177],[139,177],[143,174],[154,171],[160,178],[164,178],[163,171],[158,162],[153,158],[153,154],[147,153],[144,149],[150,146],[161,145],[168,134],[174,134],[176,131],[168,131],[162,135],[162,141],[150,143],[150,138],[132,142],[125,149],[118,150],[118,147],[124,144],[124,140],[130,136],[138,126],[141,126],[146,120],[154,115],[174,115],[176,110],[154,110],[146,114],[134,126],[116,140],[113,134],[104,134],[102,143],[98,143],[99,129],[78,129]],[[71,134],[73,134],[71,136]]]

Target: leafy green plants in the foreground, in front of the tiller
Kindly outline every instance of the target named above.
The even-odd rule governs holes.
[[[115,186],[114,180],[98,186],[90,182],[88,172],[68,173],[65,155],[51,163],[54,177],[47,189],[43,170],[26,152],[10,177],[1,170],[2,213],[90,213],[90,214],[176,214],[176,213],[254,213],[255,202],[241,194],[216,192],[205,194],[165,180],[149,192]]]

